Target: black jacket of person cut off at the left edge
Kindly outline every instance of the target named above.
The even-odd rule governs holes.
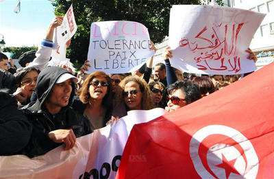
[[[16,154],[27,146],[32,125],[17,109],[17,101],[8,90],[0,90],[0,155]]]

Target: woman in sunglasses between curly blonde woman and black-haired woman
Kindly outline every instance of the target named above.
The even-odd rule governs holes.
[[[164,91],[166,90],[166,87],[164,87],[164,84],[157,81],[157,82],[151,82],[149,83],[149,88],[152,92],[152,98],[154,100],[155,107],[162,107],[164,108]]]

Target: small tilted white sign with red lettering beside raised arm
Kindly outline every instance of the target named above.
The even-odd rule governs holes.
[[[77,25],[73,13],[73,5],[64,16],[62,25],[55,30],[55,42],[51,56],[60,61],[66,60],[66,42],[70,40],[77,31]]]

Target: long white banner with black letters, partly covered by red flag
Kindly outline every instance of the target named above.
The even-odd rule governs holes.
[[[164,115],[164,109],[129,111],[119,122],[79,137],[71,150],[64,145],[45,155],[0,156],[0,178],[115,178],[125,143],[134,124]]]

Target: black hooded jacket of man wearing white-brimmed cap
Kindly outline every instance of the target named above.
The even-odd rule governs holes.
[[[55,115],[49,113],[45,107],[45,100],[47,96],[49,96],[53,85],[64,73],[69,73],[69,71],[54,66],[42,70],[36,84],[38,99],[36,102],[31,102],[21,109],[33,126],[32,137],[27,147],[23,150],[23,154],[29,157],[45,154],[62,144],[54,143],[49,139],[48,134],[52,130],[72,128],[76,137],[92,133],[89,121],[71,108],[75,93],[74,84],[72,85],[73,90],[69,98],[68,106],[63,107],[61,111]]]

